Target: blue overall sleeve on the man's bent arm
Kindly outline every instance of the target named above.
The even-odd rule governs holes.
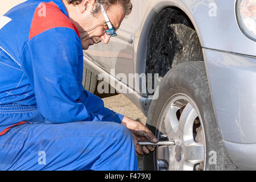
[[[22,65],[39,112],[46,123],[121,123],[123,115],[104,107],[101,98],[83,89],[78,78],[81,56],[80,38],[70,28],[52,28],[27,42]]]

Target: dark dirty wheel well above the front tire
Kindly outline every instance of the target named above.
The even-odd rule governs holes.
[[[197,32],[182,10],[166,7],[148,34],[146,73],[158,73],[162,80],[172,67],[189,61],[204,61]]]

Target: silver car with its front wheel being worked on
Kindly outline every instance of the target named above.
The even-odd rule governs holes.
[[[144,169],[255,170],[256,1],[133,6],[108,45],[84,52],[84,85],[95,92],[108,82],[159,140],[175,143],[146,155]]]

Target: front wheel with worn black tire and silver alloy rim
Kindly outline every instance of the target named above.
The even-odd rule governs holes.
[[[184,104],[180,104],[183,102]],[[178,111],[175,115],[177,120],[182,120],[179,120],[179,127],[177,127],[177,129],[172,125],[170,119],[174,114],[170,114],[170,117],[168,115],[168,113],[172,111],[172,109],[170,109],[172,107],[168,107],[168,103],[170,103],[170,106],[180,104],[179,108],[184,105],[184,107],[178,110],[180,115],[177,114]],[[189,119],[183,119],[185,118],[185,114],[183,113],[187,109],[187,106],[193,106],[191,108],[193,108],[193,112],[197,114],[195,115],[195,117],[197,116],[197,122],[194,122],[193,119],[193,123],[189,121]],[[198,122],[198,119],[200,122]],[[184,123],[188,123],[187,121],[189,121],[192,125],[184,124],[183,126],[181,125],[183,121]],[[144,170],[237,170],[237,167],[234,166],[226,155],[218,131],[204,62],[202,61],[181,63],[167,72],[160,82],[158,99],[151,101],[146,125],[159,140],[174,140],[175,146],[168,146],[170,154],[168,153],[166,159],[160,159],[163,158],[161,152],[165,146],[162,148],[158,146],[154,152],[144,156]],[[170,132],[164,131],[167,130],[166,128],[168,128],[168,126],[172,126],[170,127]],[[189,130],[186,128],[188,126],[192,126],[193,128]],[[180,133],[181,137],[178,138],[176,135],[178,135],[181,128],[184,128],[184,130],[183,133]],[[187,139],[189,138],[187,136],[191,136],[191,132],[193,132],[194,140],[191,140],[191,138],[190,140]],[[168,137],[164,135],[168,135]],[[187,144],[185,144],[185,139],[187,139],[186,143],[192,142],[200,146],[201,153],[197,152],[197,157],[199,157],[199,154],[203,154],[200,155],[200,163],[195,164],[195,166],[193,166],[194,164],[188,163],[197,161],[190,160],[190,154],[192,153],[189,152],[193,152],[195,149],[191,149],[192,151],[186,149]],[[185,149],[183,149],[183,147]],[[166,152],[167,150],[164,149],[164,151]],[[166,153],[164,154],[166,155]]]

